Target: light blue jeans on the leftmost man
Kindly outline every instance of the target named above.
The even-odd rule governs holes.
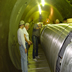
[[[19,50],[20,50],[20,54],[21,54],[21,69],[22,69],[22,72],[28,72],[27,53],[25,53],[25,49],[22,45],[19,46]]]

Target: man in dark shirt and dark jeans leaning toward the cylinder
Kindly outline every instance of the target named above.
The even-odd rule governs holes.
[[[39,58],[38,56],[38,41],[39,41],[39,37],[40,37],[40,28],[41,28],[41,24],[34,24],[33,27],[33,33],[32,33],[32,42],[33,42],[33,60],[37,61],[36,58]]]

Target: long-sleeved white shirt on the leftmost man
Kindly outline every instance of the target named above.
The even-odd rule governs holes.
[[[20,45],[23,45],[23,47],[26,49],[23,30],[19,28],[17,34],[18,34],[18,43]]]

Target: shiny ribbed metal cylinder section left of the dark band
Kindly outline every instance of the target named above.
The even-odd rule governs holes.
[[[41,30],[41,45],[52,72],[59,72],[56,71],[58,55],[71,28],[71,24],[48,24]]]

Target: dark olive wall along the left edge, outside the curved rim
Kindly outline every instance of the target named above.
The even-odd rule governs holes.
[[[9,21],[16,0],[0,0],[0,72],[21,72],[14,67],[8,51]]]

